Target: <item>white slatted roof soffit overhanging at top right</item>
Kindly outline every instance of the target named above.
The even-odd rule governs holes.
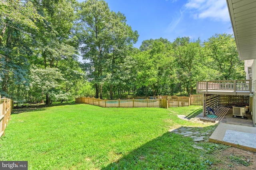
[[[226,0],[240,60],[256,59],[256,0]]]

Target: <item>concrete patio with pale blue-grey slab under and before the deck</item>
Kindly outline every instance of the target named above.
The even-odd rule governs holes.
[[[217,118],[196,116],[201,121],[219,123],[209,138],[209,142],[221,143],[256,152],[256,127],[253,127],[252,115],[246,113],[248,119],[234,118],[230,107],[220,106],[214,109]]]

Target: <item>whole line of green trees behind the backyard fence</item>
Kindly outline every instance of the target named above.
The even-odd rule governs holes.
[[[138,32],[103,0],[3,0],[0,31],[1,96],[17,104],[183,96],[197,80],[245,78],[232,35],[150,39],[137,49]]]

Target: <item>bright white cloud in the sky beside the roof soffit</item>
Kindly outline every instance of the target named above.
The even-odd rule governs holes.
[[[185,7],[194,19],[210,18],[215,21],[230,21],[225,0],[189,0]]]

